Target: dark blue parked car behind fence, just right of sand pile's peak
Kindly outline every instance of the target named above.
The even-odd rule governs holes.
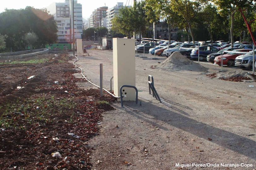
[[[207,58],[209,54],[218,52],[215,47],[209,47],[208,45],[203,45],[199,47],[199,60],[203,61]],[[191,59],[198,59],[198,49],[193,49],[190,54]]]

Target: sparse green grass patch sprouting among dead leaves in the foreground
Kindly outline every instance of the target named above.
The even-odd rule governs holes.
[[[23,107],[20,107],[24,104]],[[39,107],[37,110],[36,107]],[[26,124],[31,124],[33,120],[43,120],[44,122],[50,121],[51,117],[59,114],[69,114],[69,122],[73,122],[74,113],[76,113],[77,104],[72,101],[72,99],[56,99],[52,96],[49,99],[45,98],[35,98],[27,99],[24,101],[14,100],[11,103],[6,104],[0,113],[0,128],[16,128],[20,127],[23,129]],[[15,112],[20,112],[20,114],[14,114]],[[8,116],[8,117],[7,117]]]

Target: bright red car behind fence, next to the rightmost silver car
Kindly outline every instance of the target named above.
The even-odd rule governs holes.
[[[243,54],[243,53],[238,53],[238,52],[249,52],[249,51],[251,51],[251,50],[249,50],[249,49],[237,49],[237,50],[230,51],[228,54],[224,54],[223,58],[222,58],[223,65],[233,67],[235,65],[236,57]],[[215,57],[214,62],[216,64],[218,64],[219,66],[221,66],[221,56]]]

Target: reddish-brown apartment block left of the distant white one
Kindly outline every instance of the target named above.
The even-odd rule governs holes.
[[[100,7],[95,9],[90,15],[89,27],[97,28],[101,26],[103,19],[107,17],[108,7]]]

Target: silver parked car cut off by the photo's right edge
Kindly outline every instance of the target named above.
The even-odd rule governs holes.
[[[256,60],[256,50],[254,50],[254,62]],[[248,54],[237,56],[235,60],[235,66],[240,66],[242,68],[253,68],[253,51]]]

